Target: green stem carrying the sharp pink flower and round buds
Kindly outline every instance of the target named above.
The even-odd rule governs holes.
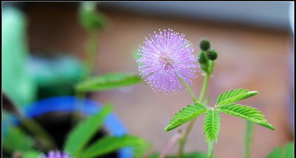
[[[210,76],[211,76],[211,72],[210,73],[206,73],[204,81],[203,81],[203,86],[201,89],[201,93],[199,95],[199,99],[197,102],[199,103],[203,103],[205,95],[207,93],[207,89],[208,89],[208,84],[209,84],[209,80],[210,80]],[[184,81],[183,81],[184,82]],[[186,83],[185,83],[185,87],[186,87]],[[188,85],[187,85],[188,86]],[[186,87],[187,88],[187,87]],[[187,89],[188,93],[191,95],[193,92],[192,90],[189,88]],[[191,96],[192,97],[192,96]],[[196,102],[196,98],[194,96],[194,98],[192,97],[193,102]],[[180,139],[180,148],[179,148],[179,153],[178,153],[178,158],[182,158],[183,154],[184,154],[184,148],[185,148],[185,143],[187,141],[188,135],[195,123],[196,118],[194,118],[192,121],[190,121],[189,125],[187,126],[184,136],[183,138]]]

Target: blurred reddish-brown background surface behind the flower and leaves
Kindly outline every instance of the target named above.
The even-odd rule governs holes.
[[[44,54],[56,51],[72,53],[84,58],[87,34],[78,24],[77,5],[74,3],[34,3],[25,11],[29,18],[30,50]],[[288,124],[289,71],[288,53],[291,51],[289,32],[249,28],[204,21],[186,21],[175,18],[142,16],[103,8],[110,25],[98,34],[99,50],[95,74],[110,71],[138,73],[133,52],[142,44],[144,36],[158,29],[173,29],[184,33],[198,48],[199,40],[207,37],[218,50],[219,57],[210,80],[208,95],[214,98],[226,90],[244,87],[259,91],[259,95],[241,101],[263,111],[275,126],[271,131],[256,125],[251,158],[263,158],[274,147],[293,141]],[[198,49],[197,49],[198,50]],[[199,53],[196,51],[196,53]],[[203,77],[194,80],[192,87],[199,95]],[[115,113],[131,134],[147,139],[152,151],[164,149],[177,132],[164,132],[174,113],[191,103],[187,93],[164,95],[155,93],[148,85],[94,93],[102,103],[114,103]],[[243,157],[245,122],[234,116],[221,116],[221,131],[214,154],[219,158]],[[203,118],[198,118],[189,136],[186,151],[207,150],[202,132]],[[181,128],[185,128],[182,126]],[[171,151],[175,153],[177,147]]]

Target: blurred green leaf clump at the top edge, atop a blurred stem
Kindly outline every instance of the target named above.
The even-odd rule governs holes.
[[[106,28],[107,18],[96,9],[97,2],[80,2],[79,21],[87,31],[98,31]]]

